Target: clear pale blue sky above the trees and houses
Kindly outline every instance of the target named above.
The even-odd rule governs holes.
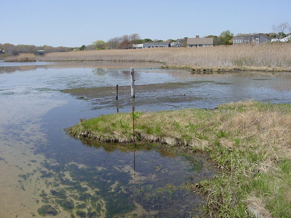
[[[137,33],[178,39],[272,32],[291,23],[290,0],[0,0],[0,43],[80,47]]]

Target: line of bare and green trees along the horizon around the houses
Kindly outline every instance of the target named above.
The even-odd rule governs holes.
[[[265,37],[268,38],[276,38],[278,42],[279,39],[287,37],[291,35],[291,24],[288,22],[281,23],[279,25],[272,26],[273,32],[270,33],[261,33]],[[257,33],[248,33],[248,34],[236,34],[236,36],[246,36],[246,35],[254,35]],[[230,30],[226,30],[221,32],[219,36],[216,35],[208,35],[206,38],[213,38],[213,45],[231,45],[233,43],[234,34]],[[102,49],[132,49],[134,44],[142,44],[144,42],[177,42],[180,41],[183,44],[183,47],[187,46],[187,39],[188,37],[184,37],[181,39],[141,39],[139,34],[133,33],[130,35],[123,35],[121,37],[113,37],[108,39],[107,42],[98,39],[92,44],[89,45],[82,45],[80,47],[52,47],[48,45],[43,46],[35,46],[35,45],[14,45],[10,43],[1,44],[0,49],[5,50],[5,55],[17,55],[19,53],[36,53],[37,50],[44,50],[45,53],[52,53],[52,52],[69,52],[69,51],[83,51],[83,50],[102,50]]]

